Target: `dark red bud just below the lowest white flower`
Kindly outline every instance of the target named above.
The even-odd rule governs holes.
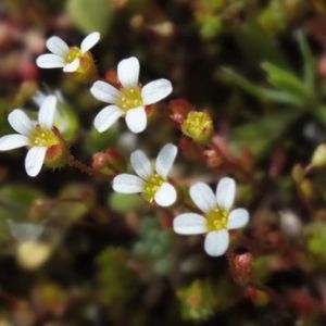
[[[247,284],[252,274],[252,254],[250,252],[235,254],[230,259],[230,272],[236,283],[240,285]]]

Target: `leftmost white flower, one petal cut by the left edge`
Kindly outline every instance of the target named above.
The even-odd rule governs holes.
[[[55,97],[47,97],[40,106],[38,122],[29,120],[27,114],[21,109],[13,110],[9,114],[8,121],[18,134],[11,134],[0,138],[0,151],[8,151],[24,146],[28,148],[25,168],[32,177],[40,172],[47,150],[58,143],[58,138],[52,129],[55,105]]]

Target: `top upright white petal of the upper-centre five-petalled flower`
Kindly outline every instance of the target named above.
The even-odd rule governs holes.
[[[138,86],[139,78],[139,61],[131,57],[122,60],[117,65],[117,78],[122,86],[131,87]]]

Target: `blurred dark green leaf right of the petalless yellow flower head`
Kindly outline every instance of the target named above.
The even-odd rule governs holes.
[[[247,148],[261,159],[269,152],[274,142],[283,137],[289,125],[299,116],[300,112],[284,111],[236,127],[230,137],[231,148],[236,152]]]

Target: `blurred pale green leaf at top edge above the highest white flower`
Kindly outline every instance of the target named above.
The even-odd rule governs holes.
[[[110,28],[113,7],[108,0],[68,0],[66,11],[83,33],[98,30],[104,36]]]

